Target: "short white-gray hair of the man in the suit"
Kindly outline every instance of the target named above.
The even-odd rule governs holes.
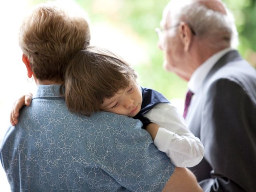
[[[209,46],[219,47],[225,44],[235,48],[238,45],[238,32],[234,17],[226,5],[223,6],[226,14],[209,9],[197,1],[172,0],[168,4],[168,10],[171,10],[169,16],[172,24],[186,22],[198,38],[210,39]]]

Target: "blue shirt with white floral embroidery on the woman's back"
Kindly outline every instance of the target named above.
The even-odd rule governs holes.
[[[141,122],[107,112],[70,114],[59,86],[38,86],[3,140],[13,191],[161,191],[174,166]]]

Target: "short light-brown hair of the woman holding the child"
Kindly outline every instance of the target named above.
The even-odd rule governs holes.
[[[36,6],[20,27],[19,45],[40,80],[64,80],[68,61],[90,42],[89,20],[53,2]]]

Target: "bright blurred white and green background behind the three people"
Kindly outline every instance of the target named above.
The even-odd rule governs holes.
[[[18,46],[18,30],[26,11],[45,0],[0,1],[0,141],[9,126],[14,101],[33,92],[28,82],[22,52]],[[63,3],[65,1],[63,0]],[[163,53],[157,47],[155,28],[159,27],[162,10],[169,0],[76,0],[91,21],[92,45],[108,48],[132,64],[138,82],[162,92],[182,112],[186,82],[162,67]],[[256,0],[223,0],[234,14],[238,28],[239,52],[256,67]],[[0,185],[10,191],[0,166]]]

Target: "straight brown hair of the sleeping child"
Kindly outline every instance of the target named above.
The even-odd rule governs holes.
[[[65,99],[70,112],[90,116],[110,98],[136,80],[127,62],[104,48],[88,46],[70,60],[65,74]]]

